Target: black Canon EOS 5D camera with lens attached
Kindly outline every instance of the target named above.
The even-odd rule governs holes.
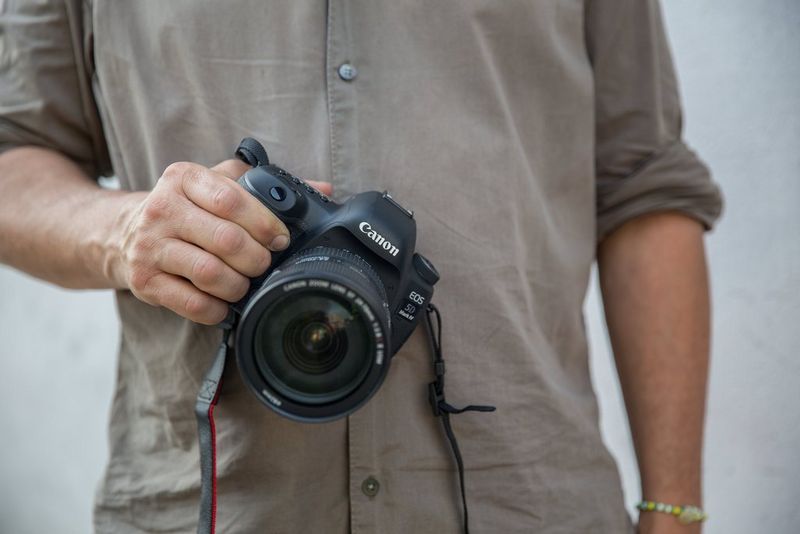
[[[232,305],[242,378],[267,407],[302,422],[352,413],[378,390],[439,279],[414,251],[413,213],[388,193],[344,203],[269,162],[254,139],[238,182],[290,232],[289,247]]]

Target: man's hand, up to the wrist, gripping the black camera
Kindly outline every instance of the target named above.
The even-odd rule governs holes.
[[[237,160],[173,163],[149,194],[132,194],[110,240],[106,268],[115,285],[192,321],[222,321],[249,278],[267,270],[271,252],[289,245],[286,226],[236,183],[248,168]],[[311,184],[331,192],[330,184]]]

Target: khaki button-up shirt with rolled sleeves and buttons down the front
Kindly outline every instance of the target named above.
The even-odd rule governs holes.
[[[598,430],[582,302],[596,243],[640,214],[710,226],[656,0],[0,3],[0,145],[153,187],[244,136],[338,200],[390,190],[441,272],[448,400],[475,533],[631,530]],[[343,67],[343,65],[346,65]],[[195,395],[212,327],[117,293],[122,340],[99,532],[191,532]],[[221,532],[457,532],[422,329],[355,414],[300,424],[229,366]]]

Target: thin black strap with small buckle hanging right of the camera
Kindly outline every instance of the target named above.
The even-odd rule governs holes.
[[[434,318],[436,319],[435,323]],[[496,408],[494,406],[474,404],[464,408],[456,408],[447,403],[444,398],[445,365],[444,356],[442,355],[442,316],[439,313],[439,309],[433,304],[428,304],[425,320],[433,352],[433,373],[436,377],[436,380],[428,384],[428,402],[433,410],[433,415],[442,419],[442,427],[456,461],[458,483],[461,488],[461,507],[464,512],[464,534],[469,534],[469,510],[467,508],[467,491],[464,483],[464,460],[461,457],[461,449],[458,447],[458,440],[455,432],[453,432],[453,426],[450,424],[450,415],[464,412],[493,412]]]

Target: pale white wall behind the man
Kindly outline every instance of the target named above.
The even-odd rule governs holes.
[[[668,0],[686,137],[727,199],[708,240],[714,351],[709,534],[800,532],[800,2]],[[602,426],[638,474],[593,287]],[[108,292],[0,268],[0,533],[85,533],[106,459],[117,317]]]

